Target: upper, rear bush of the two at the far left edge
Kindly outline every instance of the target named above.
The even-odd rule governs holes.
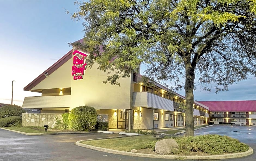
[[[25,113],[25,110],[22,110],[22,108],[17,105],[7,105],[0,108],[0,118],[9,116],[21,116],[22,113]]]

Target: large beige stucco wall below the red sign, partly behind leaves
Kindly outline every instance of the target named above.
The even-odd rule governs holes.
[[[71,66],[72,64],[70,69]],[[131,77],[119,79],[120,86],[104,84],[102,82],[108,78],[108,75],[97,67],[97,64],[94,64],[92,69],[88,67],[81,80],[72,79],[71,109],[82,105],[92,106],[95,109],[130,109]]]

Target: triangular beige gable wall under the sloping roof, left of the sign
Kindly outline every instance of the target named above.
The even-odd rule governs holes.
[[[38,83],[38,85],[33,87],[32,90],[71,87],[72,63],[72,59],[69,59],[48,77]]]

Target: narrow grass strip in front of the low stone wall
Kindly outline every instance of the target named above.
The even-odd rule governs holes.
[[[28,127],[20,127],[20,128],[13,128],[13,127],[2,127],[5,129],[20,131],[20,132],[26,132],[26,133],[45,133],[44,127],[36,127],[36,126],[28,126]],[[59,130],[59,129],[53,129],[50,131],[48,129],[47,133],[53,133],[53,132],[74,132],[72,130]]]

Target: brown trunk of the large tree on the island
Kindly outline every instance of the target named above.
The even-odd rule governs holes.
[[[186,81],[185,81],[185,95],[186,95],[186,137],[194,136],[194,79],[195,69],[191,67],[190,62],[185,63]]]

